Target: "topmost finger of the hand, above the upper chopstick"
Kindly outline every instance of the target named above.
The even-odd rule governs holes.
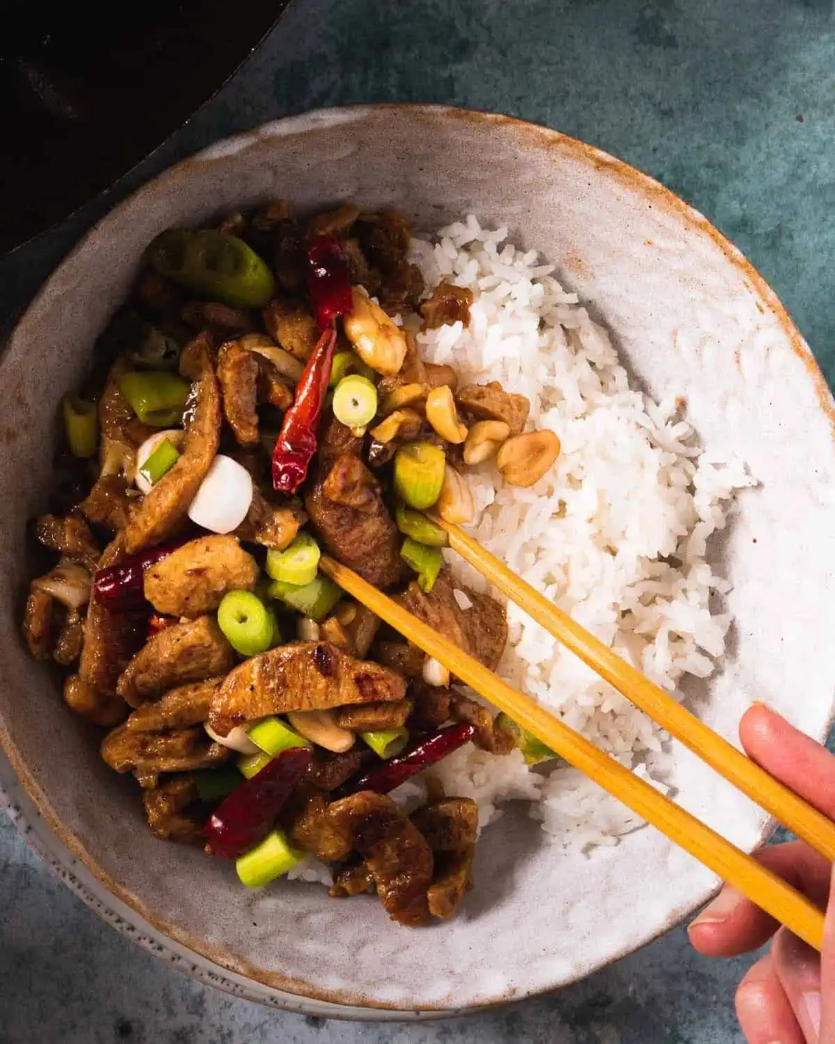
[[[745,753],[819,812],[835,820],[835,756],[764,704],[742,715]]]

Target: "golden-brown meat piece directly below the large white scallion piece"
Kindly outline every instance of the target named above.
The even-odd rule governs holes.
[[[145,570],[145,597],[158,613],[194,619],[213,613],[229,591],[252,591],[258,563],[226,536],[190,540]]]

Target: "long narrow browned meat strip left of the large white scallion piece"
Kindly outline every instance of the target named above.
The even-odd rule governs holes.
[[[200,334],[196,341],[192,354],[199,360],[200,376],[193,392],[194,407],[186,425],[186,444],[173,468],[133,512],[125,530],[125,547],[129,554],[160,544],[176,531],[217,453],[220,390],[212,367],[209,340]]]

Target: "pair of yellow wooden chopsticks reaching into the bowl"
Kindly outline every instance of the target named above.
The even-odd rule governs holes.
[[[606,645],[557,610],[457,526],[438,518],[450,546],[558,641],[672,736],[735,784],[827,859],[835,859],[835,824],[713,732]],[[412,616],[351,569],[324,555],[319,568],[424,652],[509,714],[570,764],[718,874],[795,935],[819,950],[824,915],[805,896],[731,841],[603,754],[530,696]]]

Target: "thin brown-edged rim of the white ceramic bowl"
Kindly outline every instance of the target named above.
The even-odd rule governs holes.
[[[81,236],[72,251],[70,251],[70,253],[67,254],[67,256],[53,269],[45,283],[34,294],[22,315],[18,318],[9,336],[6,338],[5,343],[2,348],[0,348],[0,359],[2,359],[5,354],[6,347],[16,337],[19,329],[26,325],[31,313],[41,304],[48,292],[50,292],[51,285],[57,274],[66,265],[70,264],[81,250],[89,246],[91,240],[95,241],[96,236],[101,234],[102,226],[105,222],[109,222],[114,216],[117,216],[129,207],[133,207],[137,199],[151,187],[158,186],[160,183],[168,182],[173,184],[181,179],[188,179],[192,167],[195,167],[207,160],[217,160],[222,151],[241,151],[261,139],[281,138],[291,134],[314,132],[317,126],[321,126],[323,124],[327,125],[331,122],[337,121],[341,123],[357,122],[368,117],[374,117],[375,115],[390,112],[401,114],[406,113],[416,119],[426,116],[450,122],[460,120],[466,123],[476,124],[485,133],[490,133],[495,127],[512,127],[518,133],[524,135],[532,144],[534,144],[536,148],[552,149],[554,151],[570,155],[574,160],[584,163],[590,168],[591,172],[595,174],[602,172],[605,176],[619,182],[626,189],[637,192],[644,198],[651,200],[653,206],[663,209],[667,214],[683,222],[695,234],[701,236],[707,235],[714,242],[714,244],[719,247],[725,259],[741,274],[747,289],[757,300],[758,307],[761,311],[767,310],[771,313],[773,318],[777,319],[783,335],[786,337],[791,348],[791,351],[803,362],[807,371],[807,376],[812,381],[820,408],[830,421],[833,441],[835,442],[835,400],[833,399],[827,380],[814,355],[812,354],[811,349],[797,330],[787,309],[782,305],[774,291],[766,283],[765,279],[744,257],[741,251],[739,251],[738,247],[736,247],[721,232],[719,232],[719,230],[716,229],[708,220],[708,218],[676,196],[670,189],[667,189],[660,182],[650,177],[648,174],[637,170],[624,161],[597,148],[596,146],[589,145],[576,138],[565,135],[559,130],[554,130],[541,124],[521,120],[516,117],[450,105],[387,102],[339,105],[311,110],[300,115],[269,121],[253,127],[249,130],[241,132],[228,138],[220,139],[200,149],[198,152],[181,160],[178,163],[166,168],[149,181],[145,182],[125,199],[117,204],[116,207],[109,210],[106,214],[104,214]],[[833,720],[835,720],[835,707],[830,708],[827,729],[831,728]],[[124,922],[122,921],[122,926],[119,924],[119,921],[122,919],[120,918],[118,910],[115,910],[112,906],[108,905],[109,897],[115,897],[119,902],[124,903],[135,915],[138,915],[139,918],[146,922],[148,926],[147,932],[156,936],[154,939],[148,939],[143,943],[141,940],[137,939],[136,933],[130,933],[135,941],[139,942],[139,945],[148,949],[156,956],[164,955],[164,953],[161,953],[161,950],[168,951],[168,954],[173,954],[174,951],[170,948],[170,943],[175,943],[178,946],[184,947],[185,949],[191,951],[196,964],[191,967],[184,967],[181,970],[185,971],[187,974],[201,978],[204,981],[208,981],[206,975],[211,969],[212,984],[219,986],[228,992],[232,992],[238,996],[243,995],[248,999],[256,1000],[261,1003],[267,1002],[264,996],[259,995],[259,991],[247,991],[244,988],[243,994],[241,994],[240,987],[234,983],[231,979],[226,980],[224,983],[224,976],[226,973],[233,973],[237,976],[243,976],[245,979],[253,980],[253,982],[261,990],[266,989],[271,992],[279,991],[291,994],[293,998],[299,998],[303,1004],[305,1001],[309,1001],[312,1004],[324,1002],[327,1004],[333,1004],[337,1007],[354,1010],[350,1013],[345,1012],[343,1015],[339,1015],[339,1013],[329,1013],[330,1017],[338,1016],[347,1019],[362,1019],[367,1017],[367,1015],[363,1015],[362,1013],[357,1014],[357,1010],[364,1010],[365,1013],[368,1014],[374,1012],[378,1018],[390,1019],[395,1021],[398,1019],[414,1019],[420,1017],[444,1018],[467,1014],[468,1012],[475,1013],[479,1011],[486,1011],[493,1007],[503,1006],[508,1003],[542,996],[552,992],[554,989],[559,989],[558,987],[531,989],[529,991],[522,991],[519,994],[514,994],[512,996],[500,996],[491,1002],[469,1005],[463,1009],[450,1009],[435,1005],[427,1005],[425,1007],[421,1007],[420,1010],[415,1010],[413,1007],[403,1009],[391,1004],[373,1001],[363,995],[352,994],[348,991],[323,990],[296,979],[285,978],[279,973],[264,973],[260,969],[245,965],[240,960],[229,960],[216,946],[212,946],[199,940],[192,940],[185,932],[183,932],[182,929],[177,928],[177,926],[169,924],[164,919],[159,918],[153,914],[153,911],[148,909],[142,902],[127,892],[126,888],[124,888],[103,870],[92,853],[85,848],[81,841],[69,830],[67,830],[59,822],[56,814],[52,810],[48,796],[43,791],[34,777],[29,772],[20,752],[17,750],[16,744],[2,722],[0,722],[0,748],[3,749],[8,761],[10,762],[10,766],[17,777],[16,782],[19,782],[22,786],[24,793],[32,803],[33,808],[37,811],[39,818],[46,827],[47,832],[51,832],[51,834],[54,835],[59,841],[61,846],[69,850],[71,857],[78,859],[82,865],[90,871],[93,877],[97,879],[97,882],[102,886],[103,894],[102,896],[93,896],[93,901],[91,902],[89,888],[77,880],[73,873],[71,861],[68,862],[66,854],[63,853],[61,849],[54,853],[50,852],[47,856],[49,863],[53,870],[61,869],[61,876],[65,879],[65,882],[72,888],[72,891],[75,892],[75,894],[78,895],[88,905],[93,905],[99,916],[104,916],[104,910],[101,909],[102,906],[110,910],[114,917],[108,918],[108,920],[110,920],[111,923],[117,927],[117,930],[120,930],[122,933],[127,933],[123,927]],[[2,787],[0,787],[0,807],[2,807],[2,796],[3,790]],[[29,825],[26,824],[25,815],[20,814],[17,818],[24,824],[24,832],[27,832],[25,827]],[[756,843],[750,846],[750,850],[754,850],[762,845],[772,833],[774,826],[774,821],[768,820],[760,831]],[[47,844],[47,840],[45,837],[40,837],[40,841],[41,844],[35,847],[43,855],[43,848]],[[685,907],[674,909],[670,912],[665,925],[661,929],[652,930],[646,935],[640,936],[636,942],[630,942],[620,947],[616,952],[609,955],[604,960],[599,962],[594,969],[584,973],[581,977],[586,977],[588,974],[593,974],[595,971],[600,971],[621,957],[626,956],[627,954],[633,953],[653,942],[676,924],[684,921],[694,909],[697,909],[703,902],[711,898],[712,895],[715,895],[717,891],[718,885],[707,889],[697,901],[688,902]],[[200,974],[198,965],[210,967],[204,967],[202,974]],[[295,1003],[290,1005],[289,998],[283,1002],[280,997],[276,997],[275,1003],[279,1007],[292,1006],[294,1011],[300,1010]],[[311,1014],[321,1014],[321,1010],[318,1009],[311,1012]]]

